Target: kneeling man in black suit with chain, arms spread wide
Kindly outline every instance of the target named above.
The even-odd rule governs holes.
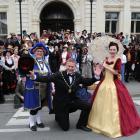
[[[36,77],[34,72],[30,72],[30,77],[39,82],[53,82],[55,84],[55,95],[53,99],[53,107],[55,120],[64,131],[69,130],[69,113],[77,109],[81,110],[80,118],[76,125],[77,129],[91,131],[87,128],[88,115],[91,105],[81,101],[76,96],[76,91],[79,84],[89,86],[99,78],[101,70],[95,71],[96,78],[83,78],[79,73],[75,72],[76,62],[73,59],[68,59],[66,62],[66,70],[51,75],[49,78]]]

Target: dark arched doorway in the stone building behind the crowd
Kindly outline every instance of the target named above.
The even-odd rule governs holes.
[[[69,6],[63,2],[47,4],[40,14],[40,32],[43,30],[60,31],[74,30],[74,15]]]

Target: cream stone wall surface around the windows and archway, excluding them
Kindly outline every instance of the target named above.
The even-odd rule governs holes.
[[[19,3],[17,0],[0,0],[0,12],[7,12],[8,34],[20,33]],[[40,29],[40,13],[42,9],[54,0],[23,0],[22,27],[27,32],[37,32]],[[90,31],[90,1],[89,0],[58,0],[66,3],[74,13],[75,30]],[[118,32],[130,34],[131,12],[140,12],[140,0],[94,0],[92,10],[92,31],[105,31],[105,12],[119,12]]]

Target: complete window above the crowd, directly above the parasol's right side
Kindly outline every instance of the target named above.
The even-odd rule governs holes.
[[[114,34],[118,31],[118,12],[106,12],[105,15],[105,32],[108,34]]]

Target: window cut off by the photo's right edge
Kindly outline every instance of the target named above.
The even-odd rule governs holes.
[[[131,14],[131,33],[140,34],[140,13]]]

